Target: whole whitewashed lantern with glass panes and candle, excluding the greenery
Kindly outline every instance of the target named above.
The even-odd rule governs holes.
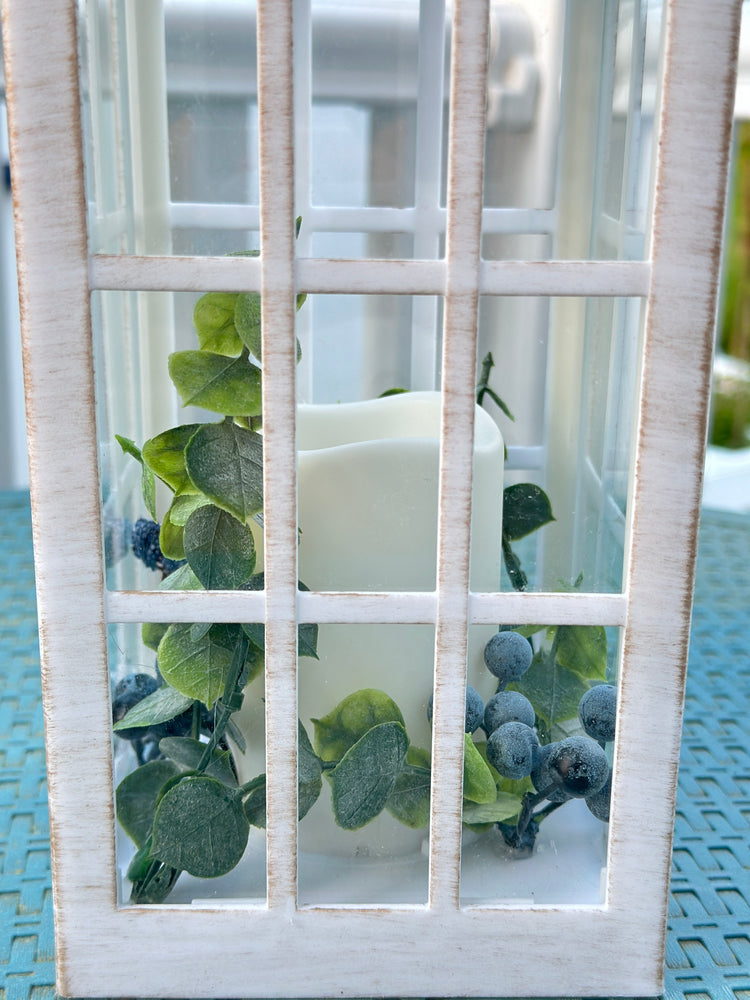
[[[740,6],[3,0],[62,994],[660,991]],[[369,130],[365,194],[337,100]],[[346,161],[327,188],[321,148]],[[187,422],[184,303],[238,291],[262,297],[264,588],[160,589],[111,558],[143,513],[114,434]],[[476,409],[489,349],[516,425]],[[418,390],[398,411],[361,402],[395,385]],[[526,590],[500,584],[503,476],[557,518]],[[266,828],[226,876],[135,904],[111,684],[153,670],[160,622],[265,623],[240,770],[265,771]],[[462,833],[465,685],[491,694],[500,622],[606,627],[618,689],[608,827],[566,803],[522,861]],[[321,659],[298,671],[299,623]],[[423,750],[434,689],[429,831],[342,831],[322,799],[298,825],[298,716],[349,683],[392,685]]]

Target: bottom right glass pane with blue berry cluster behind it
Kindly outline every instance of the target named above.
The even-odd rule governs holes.
[[[603,902],[619,641],[564,625],[474,644],[496,690],[465,755],[464,905]]]

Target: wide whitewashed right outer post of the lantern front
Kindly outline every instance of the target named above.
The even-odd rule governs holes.
[[[652,279],[630,500],[626,669],[608,856],[609,906],[625,934],[647,943],[641,961],[657,981],[664,961],[740,9],[737,0],[670,0],[666,11]],[[642,901],[637,909],[636,898]]]

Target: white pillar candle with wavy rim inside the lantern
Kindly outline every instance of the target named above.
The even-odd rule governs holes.
[[[311,590],[435,589],[440,407],[437,392],[298,407],[299,578]],[[477,408],[471,541],[475,591],[500,586],[502,490],[502,437],[490,416]],[[495,626],[477,626],[469,633],[468,682],[485,699],[495,685],[482,650],[495,631]],[[318,654],[318,661],[301,658],[298,668],[299,715],[311,739],[312,718],[326,715],[361,688],[378,688],[401,709],[411,742],[429,749],[433,626],[321,625]],[[246,701],[245,723],[252,716],[257,727],[261,707],[252,687]],[[249,763],[243,766],[243,778],[252,776]],[[328,800],[324,782],[320,801],[300,824],[302,850],[407,853],[425,835],[387,813],[361,830],[340,830]]]

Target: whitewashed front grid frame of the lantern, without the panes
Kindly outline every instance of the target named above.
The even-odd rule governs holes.
[[[260,260],[87,250],[75,4],[3,2],[40,644],[58,989],[75,996],[647,995],[660,991],[739,0],[669,0],[650,252],[644,262],[485,262],[479,254],[488,0],[453,8],[444,260],[294,259],[291,2],[259,0]],[[266,591],[105,594],[92,289],[260,289]],[[298,594],[296,291],[446,296],[435,594]],[[468,592],[476,302],[647,297],[622,594]],[[444,518],[441,515],[441,526]],[[454,522],[455,523],[455,522]],[[266,615],[268,898],[118,906],[108,621]],[[436,626],[434,787],[424,906],[296,902],[296,621]],[[464,646],[472,622],[624,627],[606,899],[458,901]],[[479,973],[477,972],[479,970]],[[210,975],[207,972],[210,971]]]

